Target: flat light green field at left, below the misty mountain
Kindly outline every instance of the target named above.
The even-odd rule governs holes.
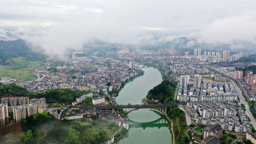
[[[44,66],[43,61],[40,60],[28,61],[24,57],[13,58],[12,60],[14,63],[0,65],[0,77],[7,76],[17,80],[20,78],[20,81],[26,79],[36,80],[37,76],[33,76],[35,69]]]

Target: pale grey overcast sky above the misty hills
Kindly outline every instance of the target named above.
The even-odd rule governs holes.
[[[199,43],[256,43],[255,0],[0,0],[3,29],[47,51],[92,39],[141,44],[186,36]],[[22,33],[22,36],[20,36]]]

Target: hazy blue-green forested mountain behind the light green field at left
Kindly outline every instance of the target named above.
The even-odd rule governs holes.
[[[12,58],[20,56],[25,57],[29,61],[45,60],[45,55],[32,51],[24,40],[0,40],[0,64],[13,63]]]

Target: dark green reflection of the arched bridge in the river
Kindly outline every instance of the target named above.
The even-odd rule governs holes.
[[[158,127],[160,129],[161,127],[168,127],[169,123],[164,120],[162,117],[152,121],[152,122],[146,122],[146,123],[140,123],[140,122],[135,122],[131,119],[128,119],[129,121],[129,129],[130,128],[140,128],[142,127],[143,130],[145,130],[146,127]],[[126,133],[125,138],[129,137],[129,131]]]

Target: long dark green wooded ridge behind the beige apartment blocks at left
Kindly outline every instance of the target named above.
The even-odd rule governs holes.
[[[65,103],[71,104],[77,97],[86,94],[87,91],[80,91],[73,89],[61,89],[61,90],[47,90],[44,92],[31,92],[26,88],[23,88],[16,84],[2,84],[0,83],[0,98],[2,97],[29,97],[33,98],[45,98],[47,103]]]

